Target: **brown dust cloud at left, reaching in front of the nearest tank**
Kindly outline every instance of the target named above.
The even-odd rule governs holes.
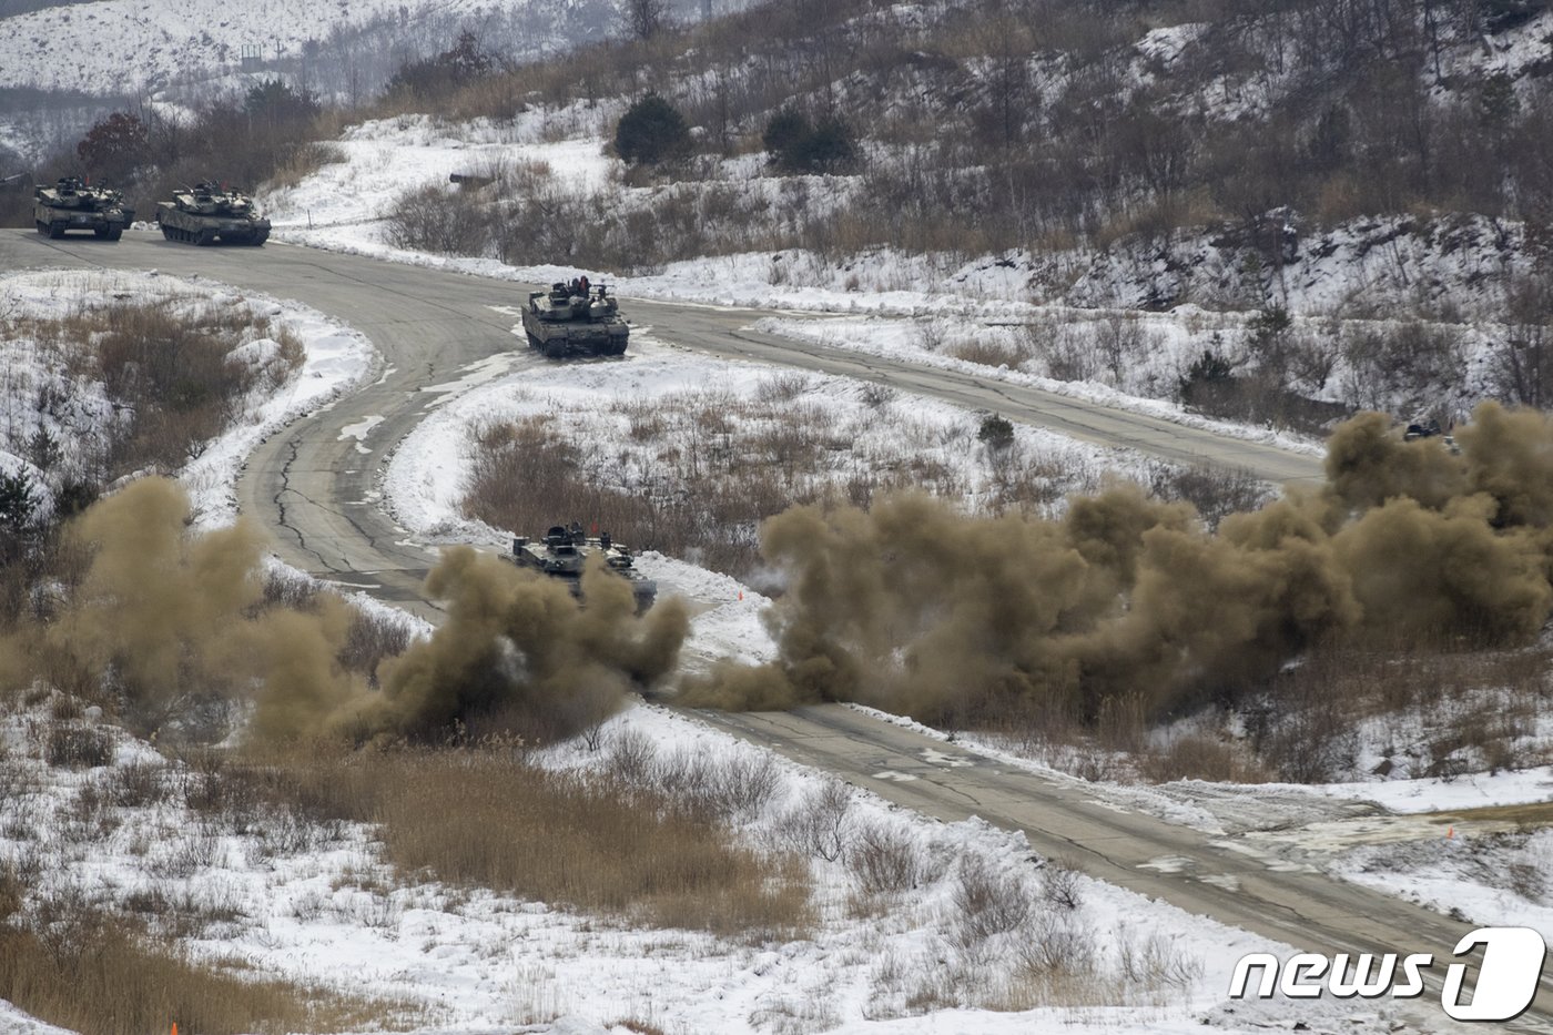
[[[92,507],[67,531],[81,561],[56,587],[51,620],[0,640],[0,679],[104,699],[148,734],[186,727],[219,698],[253,702],[258,738],[564,737],[672,670],[688,629],[680,601],[638,617],[631,587],[601,569],[584,575],[579,609],[559,584],[461,547],[429,580],[449,620],[384,662],[373,688],[340,660],[349,605],[266,600],[256,528],[188,525],[186,494],[163,479]]]

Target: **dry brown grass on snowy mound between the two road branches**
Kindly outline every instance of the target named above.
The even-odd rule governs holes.
[[[564,435],[570,421],[530,416],[477,429],[464,513],[533,535],[582,521],[634,547],[683,556],[749,578],[759,570],[759,522],[794,505],[867,507],[885,493],[964,497],[974,479],[938,458],[978,449],[974,423],[943,429],[867,393],[834,420],[803,393],[812,382],[773,375],[749,396],[719,389],[615,399],[609,434]],[[888,423],[895,435],[873,430]],[[991,462],[981,505],[1037,511],[1081,479],[1064,455],[1008,449]]]

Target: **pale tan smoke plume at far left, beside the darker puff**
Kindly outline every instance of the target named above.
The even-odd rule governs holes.
[[[84,513],[67,531],[67,550],[85,558],[81,578],[53,622],[8,639],[8,681],[68,679],[143,732],[185,737],[202,735],[196,713],[221,698],[348,696],[353,681],[335,660],[345,605],[321,597],[307,614],[264,608],[256,530],[238,522],[194,533],[188,519],[186,494],[163,479]]]

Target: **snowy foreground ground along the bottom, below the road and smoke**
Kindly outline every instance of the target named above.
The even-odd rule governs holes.
[[[348,825],[297,831],[297,850],[278,850],[266,822],[244,835],[183,811],[177,794],[135,808],[116,808],[110,833],[90,847],[70,821],[82,788],[102,786],[112,769],[149,766],[172,786],[179,763],[148,744],[107,729],[110,766],[50,769],[39,758],[39,715],[0,720],[0,746],[12,786],[33,788],[6,805],[0,858],[37,873],[36,895],[76,887],[90,901],[123,903],[160,894],[169,901],[219,906],[228,917],[188,942],[196,956],[241,960],[259,973],[354,993],[424,1004],[418,1030],[439,1035],[530,1030],[593,1035],[635,1019],[671,1032],[1157,1032],[1258,1030],[1258,1018],[1297,1012],[1317,1027],[1387,1030],[1387,1012],[1342,1004],[1239,1007],[1238,1018],[1214,1013],[1227,974],[1249,951],[1280,951],[1263,939],[1222,928],[1115,887],[1078,881],[1078,906],[1042,897],[1044,869],[1023,838],[978,821],[940,824],[901,811],[870,794],[851,793],[846,830],[885,828],[918,845],[924,876],[890,908],[859,915],[856,880],[842,862],[814,859],[817,922],[809,937],[787,943],[742,943],[691,931],[631,929],[617,922],[441,884],[396,884],[377,858],[373,831]],[[612,720],[607,746],[626,730],[651,738],[660,752],[697,760],[764,754],[663,709],[638,706]],[[604,755],[581,744],[556,749],[551,766],[593,766]],[[776,760],[780,789],[749,833],[756,841],[783,810],[818,786],[818,777]],[[33,831],[19,836],[19,825]],[[75,833],[73,833],[75,831]],[[146,852],[144,845],[152,850]],[[971,862],[966,862],[971,859]],[[1028,926],[992,945],[968,943],[957,931],[957,873],[983,862],[1025,886]],[[1169,982],[1138,982],[1135,1001],[1084,1001],[1034,1010],[975,1009],[1009,995],[1005,964],[1019,939],[1079,936],[1100,954],[1095,981],[1126,998],[1120,977],[1129,954],[1152,953],[1173,967]],[[994,950],[988,956],[988,950]],[[907,1001],[940,987],[952,1004],[913,1016]],[[1353,1015],[1350,1018],[1350,1015]],[[1208,1018],[1208,1019],[1202,1019]],[[554,1021],[551,1027],[545,1024]],[[8,1029],[17,1030],[17,1029]],[[22,1027],[20,1030],[28,1030]],[[48,1029],[39,1027],[39,1032]]]

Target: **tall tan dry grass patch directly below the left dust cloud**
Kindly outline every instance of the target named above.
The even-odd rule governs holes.
[[[238,794],[289,800],[314,819],[377,822],[404,875],[632,923],[786,937],[809,923],[803,859],[741,845],[725,817],[745,814],[744,805],[730,803],[731,791],[705,791],[752,775],[761,782],[730,769],[679,796],[612,772],[550,772],[511,746],[488,746],[306,751],[280,766],[228,766],[221,783],[247,783]]]

